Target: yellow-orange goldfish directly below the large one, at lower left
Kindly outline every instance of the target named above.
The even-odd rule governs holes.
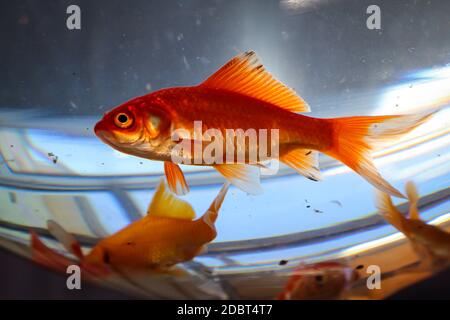
[[[107,275],[124,269],[164,272],[175,264],[193,259],[214,240],[215,221],[228,187],[228,183],[224,184],[206,213],[194,219],[192,206],[174,196],[161,182],[145,217],[101,240],[87,255],[59,224],[49,221],[48,229],[92,275]],[[64,272],[73,264],[46,247],[35,233],[32,233],[32,253],[36,262]]]

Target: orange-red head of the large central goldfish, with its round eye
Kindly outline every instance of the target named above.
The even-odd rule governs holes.
[[[169,117],[151,99],[139,97],[106,113],[94,131],[103,142],[119,151],[152,157],[166,140],[170,128]]]

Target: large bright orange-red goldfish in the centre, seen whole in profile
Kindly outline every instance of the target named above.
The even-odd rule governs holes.
[[[330,119],[300,114],[309,111],[303,98],[276,80],[250,51],[237,55],[199,85],[161,89],[115,107],[94,131],[118,151],[163,161],[169,187],[177,194],[189,191],[179,163],[212,166],[241,190],[259,194],[264,161],[279,160],[309,179],[320,180],[321,152],[379,190],[404,197],[377,171],[371,152],[424,123],[434,111]],[[196,127],[196,123],[200,124]],[[226,147],[219,155],[206,152],[213,143],[207,134],[210,129],[221,134],[218,145]],[[224,139],[229,130],[245,134],[268,130],[270,143],[268,137],[248,144],[233,136]],[[177,145],[182,142],[194,152],[192,148],[179,152]],[[203,151],[200,158],[197,147]],[[174,150],[183,162],[174,161]],[[256,159],[251,159],[252,151]]]

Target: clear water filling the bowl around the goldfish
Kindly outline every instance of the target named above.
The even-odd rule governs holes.
[[[375,163],[399,190],[413,180],[421,216],[449,229],[446,6],[386,1],[382,30],[368,31],[364,1],[328,1],[305,12],[286,11],[277,1],[96,1],[81,3],[86,19],[82,30],[71,32],[57,27],[64,16],[47,24],[38,19],[38,12],[51,9],[56,15],[62,5],[11,5],[8,21],[26,15],[29,22],[14,24],[14,40],[0,34],[11,43],[0,53],[8,61],[0,67],[7,71],[0,86],[0,244],[28,255],[31,229],[62,250],[48,237],[46,221],[53,219],[88,250],[142,217],[163,175],[162,163],[114,151],[95,137],[93,125],[102,112],[146,90],[198,83],[246,49],[295,87],[313,116],[441,108],[377,153]],[[126,23],[111,24],[118,19]],[[261,196],[232,187],[217,238],[207,253],[184,264],[191,278],[122,275],[109,285],[151,298],[271,298],[300,262],[356,267],[376,261],[387,278],[416,263],[406,240],[377,215],[373,187],[326,156],[320,166],[321,182],[282,167],[277,176],[263,178]],[[223,180],[204,167],[183,171],[191,186],[185,199],[201,215]],[[406,208],[403,202],[396,200]],[[394,252],[402,252],[401,258]],[[397,289],[394,281],[385,294]]]

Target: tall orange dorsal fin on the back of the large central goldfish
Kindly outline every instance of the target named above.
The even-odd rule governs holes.
[[[266,71],[253,51],[234,57],[200,86],[233,91],[292,112],[310,111],[294,90]]]

